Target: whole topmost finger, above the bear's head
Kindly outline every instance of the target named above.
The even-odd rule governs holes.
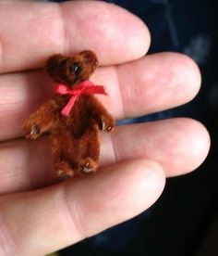
[[[150,35],[127,10],[104,2],[0,3],[0,72],[42,67],[54,53],[96,52],[102,65],[143,56]],[[13,17],[13,19],[11,19]]]

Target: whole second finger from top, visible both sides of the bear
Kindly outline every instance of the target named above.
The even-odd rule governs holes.
[[[173,63],[173,64],[172,64]],[[169,109],[188,102],[200,89],[200,71],[188,57],[162,53],[95,72],[109,96],[99,96],[116,119]],[[0,140],[22,134],[22,122],[52,94],[41,70],[0,77]]]

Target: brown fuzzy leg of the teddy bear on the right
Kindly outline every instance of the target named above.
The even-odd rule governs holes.
[[[81,150],[79,172],[83,174],[95,173],[100,154],[99,134],[96,129],[89,129],[83,134]]]

